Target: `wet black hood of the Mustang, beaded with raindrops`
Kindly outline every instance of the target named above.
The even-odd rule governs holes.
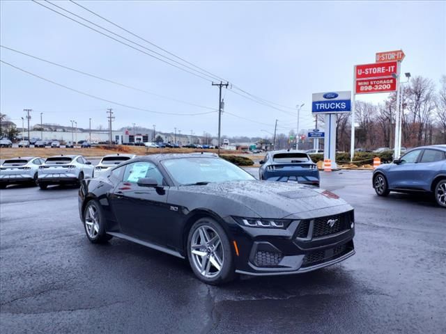
[[[296,182],[252,180],[186,187],[193,193],[237,202],[245,206],[247,212],[254,212],[263,218],[311,218],[353,209],[330,191]]]

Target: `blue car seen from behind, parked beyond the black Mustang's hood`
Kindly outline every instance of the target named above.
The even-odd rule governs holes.
[[[260,161],[259,179],[268,181],[295,181],[319,186],[319,170],[306,152],[272,151]]]

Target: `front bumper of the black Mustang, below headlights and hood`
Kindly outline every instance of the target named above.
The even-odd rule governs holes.
[[[346,213],[346,216],[354,220],[353,212]],[[251,276],[286,275],[305,273],[344,261],[355,254],[353,220],[345,221],[341,230],[316,237],[314,233],[323,233],[326,228],[314,225],[313,230],[309,219],[295,220],[286,229],[250,228],[233,221],[230,223],[231,232],[239,250],[235,257],[236,272]],[[302,228],[308,230],[305,237],[301,235]]]

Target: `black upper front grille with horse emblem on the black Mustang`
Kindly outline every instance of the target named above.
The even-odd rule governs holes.
[[[353,212],[344,212],[333,216],[318,217],[301,221],[295,236],[306,238],[309,228],[313,228],[312,238],[326,237],[331,234],[337,234],[351,228],[353,222]]]

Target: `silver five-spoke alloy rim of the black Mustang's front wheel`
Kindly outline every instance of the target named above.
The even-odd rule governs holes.
[[[201,225],[192,234],[190,244],[192,263],[206,278],[214,278],[223,267],[224,252],[218,233],[208,225]]]

